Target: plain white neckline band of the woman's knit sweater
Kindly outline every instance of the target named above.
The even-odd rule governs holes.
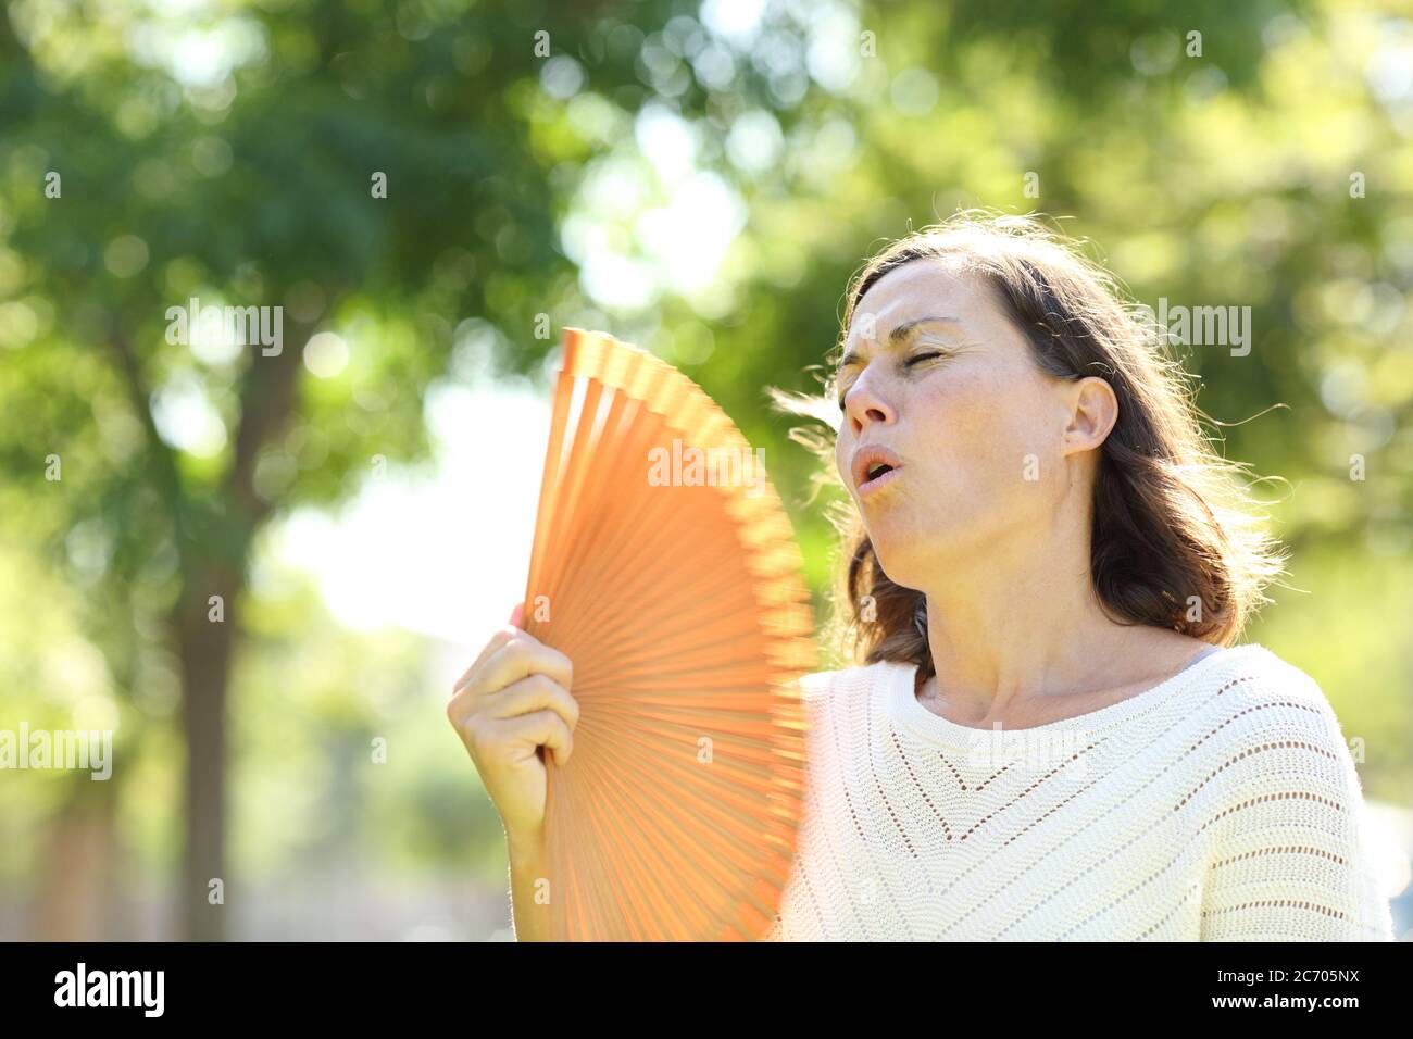
[[[917,701],[916,695],[916,663],[901,663],[897,660],[882,662],[887,669],[886,695],[889,711],[893,718],[901,722],[916,735],[934,744],[951,748],[974,748],[978,742],[1000,742],[1002,745],[1019,744],[1029,739],[1053,736],[1071,729],[1095,731],[1109,728],[1129,718],[1145,714],[1157,707],[1163,700],[1181,688],[1191,687],[1202,680],[1214,667],[1228,660],[1241,659],[1252,653],[1266,652],[1259,643],[1231,646],[1218,649],[1215,653],[1204,653],[1193,663],[1183,667],[1176,674],[1169,676],[1156,686],[1150,686],[1142,693],[1099,707],[1094,711],[1077,714],[1072,718],[1046,722],[1044,725],[1030,725],[1027,728],[978,728],[934,714]]]

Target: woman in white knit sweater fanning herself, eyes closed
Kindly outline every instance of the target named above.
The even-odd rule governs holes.
[[[835,632],[859,666],[803,681],[767,937],[1390,940],[1338,720],[1234,645],[1275,546],[1104,271],[1034,221],[959,215],[856,276],[842,346],[814,445],[853,503]],[[565,759],[577,708],[516,621],[448,714],[536,939],[536,748]]]

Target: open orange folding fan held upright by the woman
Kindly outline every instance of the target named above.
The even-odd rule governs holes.
[[[551,936],[763,936],[804,786],[800,551],[726,414],[601,332],[564,334],[523,626],[581,708],[545,753]]]

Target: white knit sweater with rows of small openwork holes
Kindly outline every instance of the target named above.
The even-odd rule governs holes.
[[[1259,645],[993,732],[914,664],[821,671],[804,817],[764,940],[1388,941],[1354,759]]]

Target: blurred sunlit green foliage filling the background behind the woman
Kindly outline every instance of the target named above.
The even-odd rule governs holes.
[[[668,0],[4,16],[0,680],[25,717],[72,711],[75,681],[119,712],[120,831],[148,868],[177,868],[181,704],[203,694],[184,676],[220,588],[236,868],[476,861],[495,886],[499,824],[428,728],[430,647],[343,632],[308,588],[250,587],[261,532],[345,500],[379,459],[425,462],[438,380],[545,385],[560,329],[601,327],[766,447],[822,594],[827,499],[804,505],[814,459],[764,389],[818,389],[865,256],[971,205],[1067,218],[1139,303],[1251,307],[1248,356],[1184,358],[1228,457],[1289,481],[1270,496],[1311,595],[1282,592],[1249,638],[1368,734],[1376,792],[1409,789],[1407,739],[1376,735],[1413,717],[1406,18],[1334,0],[774,3],[731,35]],[[649,117],[690,140],[687,174],[644,144]],[[705,286],[670,277],[653,223],[688,181],[721,189],[691,196],[722,199],[704,230],[739,226]],[[647,290],[610,298],[606,260]],[[283,353],[170,342],[192,297],[283,307]],[[366,761],[377,736],[386,766]],[[16,789],[11,850],[65,796]],[[0,878],[37,862],[0,858]]]

